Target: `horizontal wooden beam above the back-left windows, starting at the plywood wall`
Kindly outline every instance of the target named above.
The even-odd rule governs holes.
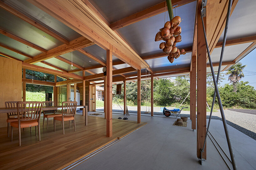
[[[40,71],[40,72],[53,74],[53,75],[64,76],[64,77],[68,77],[68,78],[72,78],[72,79],[79,79],[79,80],[83,79],[82,76],[75,75],[73,73],[53,70],[53,69],[49,69],[49,68],[45,68],[45,67],[41,67],[41,66],[36,66],[36,65],[33,65],[33,64],[24,63],[24,62],[22,63],[22,68],[23,69],[28,69],[28,70]]]

